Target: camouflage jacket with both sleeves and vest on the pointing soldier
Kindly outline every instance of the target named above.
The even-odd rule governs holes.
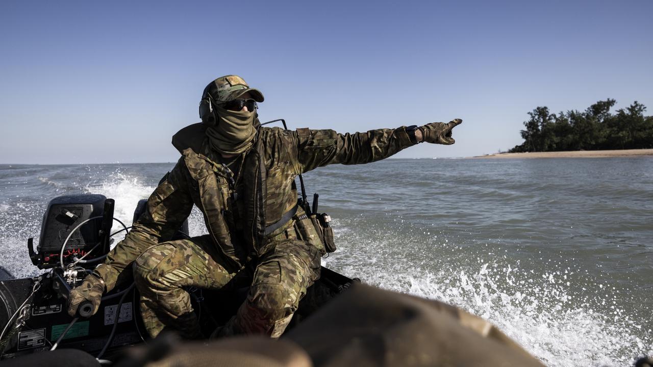
[[[264,235],[297,202],[295,177],[334,163],[356,165],[390,157],[413,146],[405,127],[366,133],[338,134],[333,130],[259,127],[255,146],[244,157],[236,182],[209,148],[206,127],[196,123],[172,138],[182,157],[148,199],[148,210],[97,268],[107,291],[148,247],[172,237],[195,204],[217,249],[234,268],[261,255],[267,239],[287,229]],[[236,195],[238,195],[236,197]],[[234,220],[238,218],[238,220]]]

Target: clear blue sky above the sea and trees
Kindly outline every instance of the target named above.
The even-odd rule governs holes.
[[[176,161],[202,89],[238,74],[262,121],[340,132],[462,118],[512,148],[536,106],[653,114],[653,1],[0,2],[0,163]]]

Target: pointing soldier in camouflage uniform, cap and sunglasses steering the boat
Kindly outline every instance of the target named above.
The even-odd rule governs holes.
[[[147,211],[80,287],[71,291],[74,315],[85,300],[95,311],[101,295],[129,275],[140,291],[144,323],[152,337],[163,328],[200,338],[183,287],[220,289],[246,274],[246,301],[219,335],[281,335],[299,301],[320,275],[325,247],[304,210],[293,181],[314,168],[379,161],[421,141],[453,144],[462,121],[422,127],[338,134],[332,130],[260,127],[256,104],[263,94],[242,78],[223,76],[202,95],[202,123],[172,138],[182,157],[161,180]],[[210,234],[170,241],[193,205]],[[250,272],[250,270],[253,270]]]

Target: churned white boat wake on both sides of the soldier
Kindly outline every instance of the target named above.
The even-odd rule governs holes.
[[[131,225],[136,203],[156,184],[123,170],[103,179],[89,172],[88,178],[75,179],[91,182],[81,186],[38,177],[40,184],[57,187],[57,195],[115,199],[114,215],[125,225]],[[41,215],[52,197],[46,191],[0,202],[0,264],[16,277],[40,274],[29,263],[25,244],[28,237],[39,238]],[[498,248],[497,241],[462,244],[451,233],[424,231],[396,215],[370,221],[351,213],[334,215],[338,251],[324,260],[333,270],[484,317],[549,366],[626,366],[639,355],[653,355],[650,314],[641,317],[620,306],[633,292],[593,279],[573,263],[520,263],[505,255],[511,247]],[[206,233],[198,210],[191,213],[189,232]]]

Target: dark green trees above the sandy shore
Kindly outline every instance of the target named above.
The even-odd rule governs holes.
[[[524,143],[509,153],[653,148],[653,116],[644,116],[646,106],[635,101],[612,114],[614,104],[606,99],[584,111],[559,114],[537,107],[520,131]]]

